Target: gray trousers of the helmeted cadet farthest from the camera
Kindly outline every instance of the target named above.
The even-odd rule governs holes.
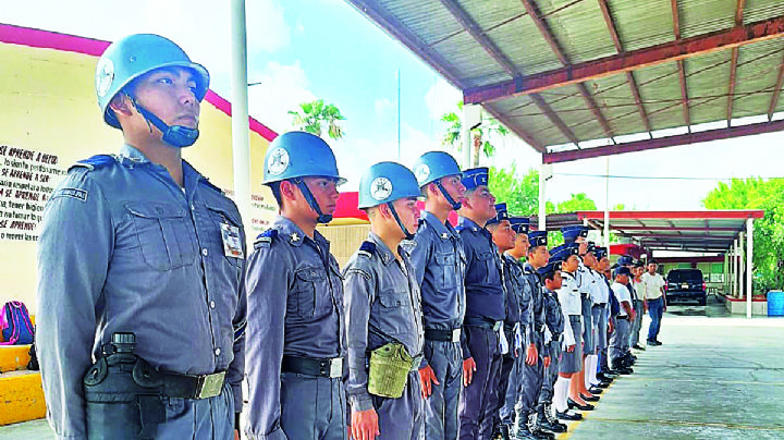
[[[457,438],[457,405],[463,388],[463,352],[460,342],[425,340],[424,353],[439,381],[438,384],[431,384],[432,393],[425,401],[425,439],[454,440]],[[446,417],[448,414],[450,417]]]

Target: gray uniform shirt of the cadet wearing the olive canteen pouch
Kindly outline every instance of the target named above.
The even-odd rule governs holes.
[[[348,343],[346,391],[354,411],[372,408],[367,391],[370,352],[390,342],[405,346],[412,357],[421,354],[419,285],[408,254],[397,248],[397,260],[387,245],[370,232],[367,242],[344,269],[345,316]]]

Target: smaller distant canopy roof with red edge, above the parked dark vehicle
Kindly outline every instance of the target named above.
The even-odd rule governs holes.
[[[604,211],[577,211],[578,222],[604,229]],[[761,219],[763,210],[610,211],[610,230],[648,250],[725,253],[747,219]],[[548,218],[548,223],[550,219]]]

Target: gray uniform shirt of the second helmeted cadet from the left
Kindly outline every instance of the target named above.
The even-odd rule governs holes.
[[[250,432],[280,429],[281,360],[284,355],[345,355],[343,277],[318,231],[308,237],[278,216],[258,236],[248,258],[247,374]]]

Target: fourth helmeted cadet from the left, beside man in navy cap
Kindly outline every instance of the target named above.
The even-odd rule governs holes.
[[[461,337],[465,316],[465,254],[457,231],[446,221],[461,208],[465,186],[457,162],[446,152],[430,151],[417,159],[414,175],[425,196],[411,253],[421,285],[425,358],[419,368],[425,398],[425,438],[457,438],[457,404],[463,387]]]

